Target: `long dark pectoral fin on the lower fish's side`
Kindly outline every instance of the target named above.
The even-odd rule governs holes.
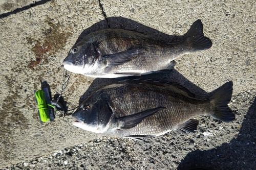
[[[129,116],[117,117],[116,120],[122,125],[120,128],[129,129],[138,125],[146,117],[151,116],[162,109],[165,109],[165,107],[157,107],[154,109],[148,109],[143,112],[139,112]]]

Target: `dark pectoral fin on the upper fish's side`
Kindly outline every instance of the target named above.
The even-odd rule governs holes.
[[[137,50],[129,50],[117,54],[106,55],[103,59],[106,61],[106,66],[120,65],[133,60],[144,52],[144,49],[140,48]]]

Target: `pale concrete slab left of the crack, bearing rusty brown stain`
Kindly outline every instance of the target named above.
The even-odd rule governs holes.
[[[50,84],[53,95],[61,92],[61,62],[71,44],[85,28],[104,19],[98,2],[68,2],[48,2],[0,21],[0,99],[3,101],[0,118],[3,148],[0,153],[3,156],[0,166],[74,145],[74,141],[80,143],[87,140],[81,138],[80,132],[67,122],[68,118],[40,125],[33,96],[33,90],[41,88],[40,81]],[[40,61],[38,65],[37,60]],[[70,108],[78,105],[80,95],[92,81],[74,74],[71,76],[72,83],[74,77],[83,80],[79,86],[67,89],[69,93],[65,95],[74,101]]]

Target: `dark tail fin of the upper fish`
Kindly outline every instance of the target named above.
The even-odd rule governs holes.
[[[184,36],[187,39],[188,46],[191,48],[192,52],[207,50],[212,45],[211,40],[204,37],[203,24],[200,19],[193,23]]]

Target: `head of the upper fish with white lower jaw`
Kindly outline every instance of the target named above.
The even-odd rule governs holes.
[[[63,60],[64,68],[78,74],[87,74],[97,68],[99,54],[93,43],[78,43]]]

